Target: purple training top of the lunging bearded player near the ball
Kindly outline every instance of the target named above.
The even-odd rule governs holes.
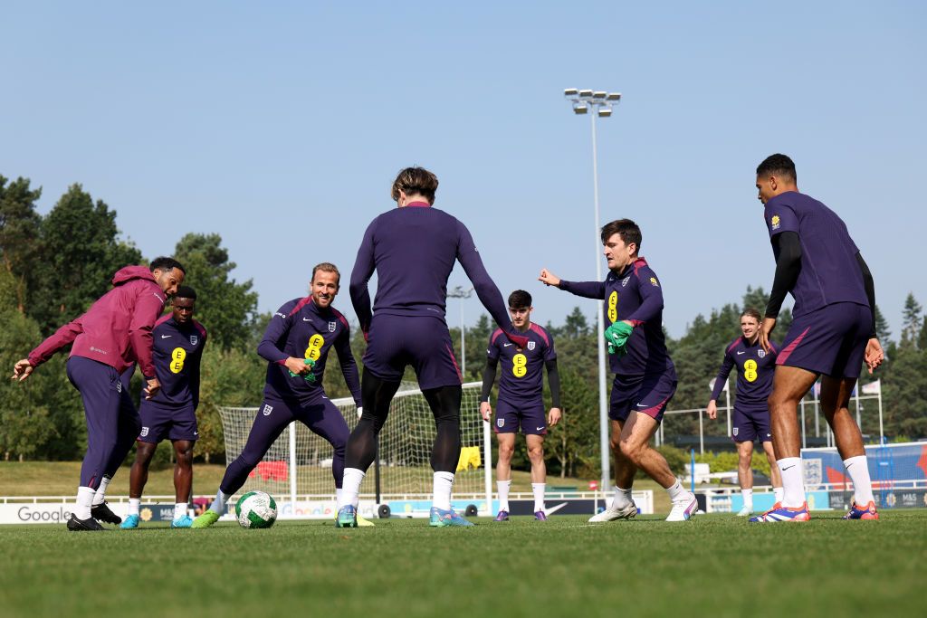
[[[258,345],[258,354],[267,359],[267,385],[264,395],[297,400],[300,403],[320,401],[325,396],[322,379],[328,351],[335,347],[345,384],[354,398],[361,404],[361,381],[357,363],[350,351],[350,327],[340,312],[332,307],[319,309],[312,296],[294,298],[273,314],[267,325],[264,338]],[[286,359],[313,359],[315,382],[307,382],[301,376],[290,376]]]

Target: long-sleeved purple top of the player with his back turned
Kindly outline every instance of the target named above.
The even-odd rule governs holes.
[[[492,319],[511,334],[512,322],[502,294],[489,278],[470,231],[464,223],[426,202],[413,202],[384,212],[363,234],[350,276],[350,297],[362,331],[370,330],[372,314],[367,284],[374,271],[376,313],[431,316],[443,321],[448,277],[455,260],[464,267],[476,288],[476,296]]]

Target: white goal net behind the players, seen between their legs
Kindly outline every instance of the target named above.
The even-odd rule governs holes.
[[[454,478],[454,494],[485,495],[485,466],[488,438],[479,415],[478,382],[464,385],[461,405],[461,458]],[[349,429],[358,422],[357,407],[350,397],[333,399]],[[245,448],[258,408],[219,409],[225,456],[234,460]],[[393,397],[387,423],[379,435],[378,474],[382,496],[426,496],[431,494],[431,448],[435,441],[435,419],[417,385],[403,383]],[[377,467],[371,465],[361,494],[375,496]],[[332,447],[302,423],[291,423],[273,443],[264,459],[248,477],[239,494],[251,490],[272,496],[295,495],[299,499],[330,498],[335,494],[332,475]]]

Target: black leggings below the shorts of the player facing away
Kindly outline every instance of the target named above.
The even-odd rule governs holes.
[[[348,438],[345,467],[366,472],[376,457],[376,436],[389,415],[389,404],[399,390],[399,382],[382,380],[371,372],[363,372],[361,399],[363,415]],[[438,435],[431,450],[431,469],[436,473],[453,473],[461,456],[461,397],[460,386],[439,386],[423,391],[425,400],[435,415]]]

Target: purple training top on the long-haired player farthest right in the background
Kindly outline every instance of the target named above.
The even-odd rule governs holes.
[[[737,367],[737,400],[735,408],[742,406],[761,407],[767,410],[767,398],[772,392],[772,374],[776,369],[776,356],[779,349],[769,342],[769,351],[756,343],[750,344],[743,337],[737,337],[724,352],[724,361],[717,372],[715,388],[711,398],[717,401],[724,384],[728,381],[730,370]]]

